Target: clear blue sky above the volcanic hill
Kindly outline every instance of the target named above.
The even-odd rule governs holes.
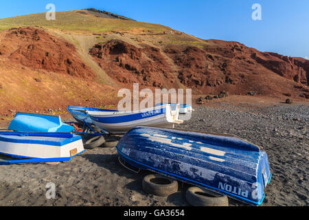
[[[238,41],[260,51],[309,56],[308,0],[39,0],[1,1],[0,19],[46,12],[97,8],[137,21],[159,23],[201,39]],[[253,21],[252,5],[262,6],[262,21]]]

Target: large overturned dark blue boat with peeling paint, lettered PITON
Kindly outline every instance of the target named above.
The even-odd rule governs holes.
[[[255,206],[262,204],[264,188],[271,180],[266,153],[233,135],[137,126],[116,148],[124,165]]]

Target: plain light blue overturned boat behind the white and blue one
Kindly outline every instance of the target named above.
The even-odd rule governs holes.
[[[34,113],[16,113],[8,126],[9,130],[20,132],[71,132],[73,126],[62,123],[60,116]]]

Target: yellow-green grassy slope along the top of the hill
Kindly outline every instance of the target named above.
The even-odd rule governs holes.
[[[45,19],[45,13],[0,19],[0,30],[19,28],[23,26],[42,26],[59,30],[89,32],[132,30],[135,28],[141,28],[152,32],[170,30],[170,28],[163,25],[138,21],[126,21],[122,19],[104,19],[90,14],[81,14],[78,11],[56,12],[56,21],[47,21],[47,19]]]

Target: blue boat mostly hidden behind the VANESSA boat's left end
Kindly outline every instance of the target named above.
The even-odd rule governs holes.
[[[115,110],[109,110],[109,109],[97,109],[97,108],[76,107],[76,106],[67,107],[67,111],[69,111],[69,113],[71,113],[73,118],[75,118],[78,122],[87,122],[88,124],[93,124],[93,121],[87,114],[87,111],[115,112]]]

